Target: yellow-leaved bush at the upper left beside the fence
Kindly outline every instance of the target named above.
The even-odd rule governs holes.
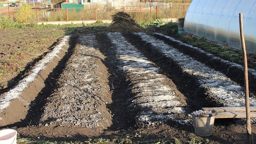
[[[22,3],[20,10],[18,12],[17,20],[20,24],[22,23],[35,23],[36,22],[36,13],[27,3]]]

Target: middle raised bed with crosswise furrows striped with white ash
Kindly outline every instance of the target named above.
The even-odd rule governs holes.
[[[119,71],[130,83],[128,108],[136,113],[137,123],[154,125],[157,121],[184,118],[187,103],[172,80],[161,74],[161,69],[128,43],[121,33],[108,33],[108,38],[113,44],[111,49],[115,51]]]

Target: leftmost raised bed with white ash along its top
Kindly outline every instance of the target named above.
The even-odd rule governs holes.
[[[25,125],[30,116],[35,118],[32,113],[38,109],[32,109],[32,105],[35,104],[38,93],[47,86],[46,83],[51,83],[46,79],[49,76],[54,77],[53,68],[61,62],[62,58],[66,57],[65,53],[69,47],[72,47],[69,45],[69,40],[72,38],[71,36],[64,36],[58,45],[42,60],[39,60],[18,84],[0,95],[0,126],[19,122]],[[42,99],[44,98],[41,97]]]

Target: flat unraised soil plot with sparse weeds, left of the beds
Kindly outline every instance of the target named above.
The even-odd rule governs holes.
[[[0,92],[12,87],[64,36],[65,28],[2,29]]]

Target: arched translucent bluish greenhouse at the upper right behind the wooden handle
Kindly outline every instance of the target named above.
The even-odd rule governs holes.
[[[184,32],[241,50],[239,13],[243,13],[246,51],[256,54],[256,0],[193,0]]]

